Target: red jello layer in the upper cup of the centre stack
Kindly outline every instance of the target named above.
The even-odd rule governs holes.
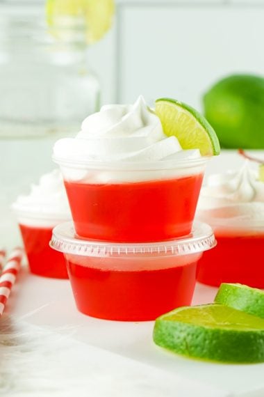
[[[65,187],[77,235],[112,242],[155,242],[192,228],[203,173],[167,180]]]

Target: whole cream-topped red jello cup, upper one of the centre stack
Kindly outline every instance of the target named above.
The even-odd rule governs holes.
[[[75,139],[56,142],[53,159],[77,235],[154,242],[190,233],[208,157],[165,135],[142,97],[86,118]]]

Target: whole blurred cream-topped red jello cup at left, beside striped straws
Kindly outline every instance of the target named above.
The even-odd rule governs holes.
[[[13,204],[22,234],[29,269],[33,274],[67,279],[63,255],[49,247],[52,229],[71,219],[63,178],[59,170],[44,174],[27,196]]]

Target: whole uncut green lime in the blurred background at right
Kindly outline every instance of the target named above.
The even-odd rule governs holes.
[[[224,148],[264,148],[264,78],[231,75],[204,95],[204,113]]]

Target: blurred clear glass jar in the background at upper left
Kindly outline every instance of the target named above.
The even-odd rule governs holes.
[[[0,5],[0,137],[67,134],[99,106],[85,30],[48,31],[43,6]]]

